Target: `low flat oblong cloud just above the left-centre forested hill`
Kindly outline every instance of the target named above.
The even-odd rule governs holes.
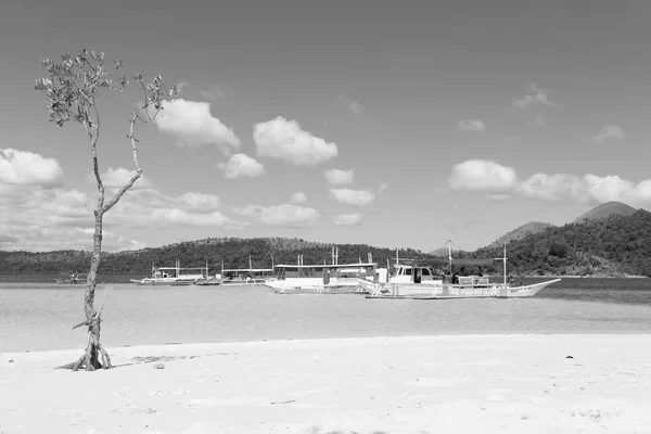
[[[267,226],[284,228],[302,228],[314,225],[320,217],[319,212],[314,208],[282,204],[271,206],[247,205],[234,209],[237,214],[253,217]]]

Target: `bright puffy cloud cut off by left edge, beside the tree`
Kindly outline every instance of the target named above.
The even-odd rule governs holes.
[[[0,183],[51,189],[63,186],[63,170],[54,158],[11,148],[0,149]]]

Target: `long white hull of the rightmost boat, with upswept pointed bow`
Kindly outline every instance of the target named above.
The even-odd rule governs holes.
[[[522,286],[505,286],[503,284],[469,286],[372,282],[359,282],[359,284],[370,293],[367,298],[520,298],[533,297],[546,286],[560,280],[553,279]]]

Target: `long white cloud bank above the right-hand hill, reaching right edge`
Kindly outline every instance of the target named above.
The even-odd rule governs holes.
[[[482,191],[492,200],[507,200],[512,194],[546,202],[601,204],[620,201],[651,204],[651,179],[633,182],[616,175],[582,176],[570,174],[535,174],[519,180],[512,167],[490,161],[472,159],[452,167],[448,179],[456,190]]]

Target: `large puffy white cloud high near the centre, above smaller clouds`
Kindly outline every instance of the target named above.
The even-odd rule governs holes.
[[[280,116],[256,124],[253,139],[259,156],[284,159],[294,166],[317,166],[339,154],[336,144],[304,131],[296,120]]]

